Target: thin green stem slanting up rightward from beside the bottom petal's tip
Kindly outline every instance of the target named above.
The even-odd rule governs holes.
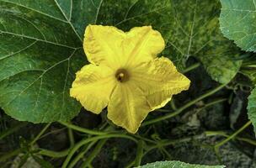
[[[145,123],[142,123],[141,126],[146,126],[152,123],[157,123],[160,121],[163,121],[168,118],[173,118],[174,116],[179,115],[179,113],[182,113],[184,109],[189,108],[190,106],[194,105],[196,102],[199,102],[200,100],[204,99],[205,97],[210,97],[212,94],[218,92],[221,90],[223,87],[225,87],[227,84],[222,84],[219,87],[216,87],[215,89],[211,90],[210,92],[206,92],[202,96],[195,98],[195,100],[192,100],[191,102],[186,103],[183,107],[179,108],[176,112],[174,113],[169,113],[167,115],[164,115],[163,117],[155,118],[149,121],[146,121]]]

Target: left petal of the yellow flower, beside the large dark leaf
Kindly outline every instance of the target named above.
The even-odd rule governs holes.
[[[70,94],[88,111],[100,113],[115,87],[115,73],[107,66],[90,64],[77,72]]]

